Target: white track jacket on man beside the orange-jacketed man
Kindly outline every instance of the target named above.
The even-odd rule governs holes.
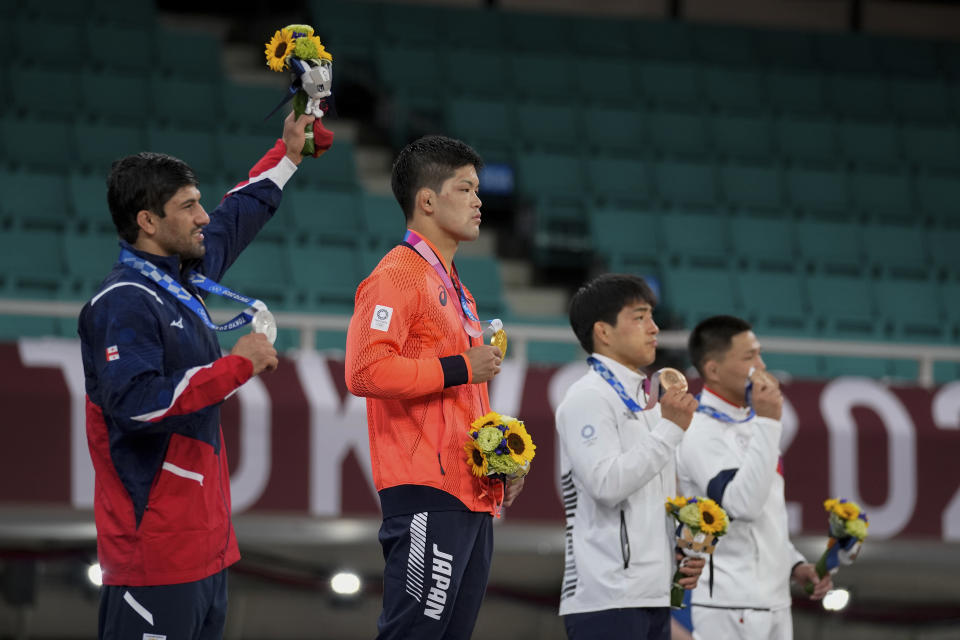
[[[642,374],[593,355],[645,404]],[[675,538],[664,503],[683,430],[659,405],[632,413],[592,368],[567,390],[556,427],[567,523],[560,615],[670,606]]]

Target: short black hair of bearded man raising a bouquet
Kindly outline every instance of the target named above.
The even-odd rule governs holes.
[[[107,177],[107,206],[117,234],[133,244],[140,231],[137,213],[145,209],[162,218],[163,205],[177,191],[198,184],[186,162],[165,153],[143,151],[115,160]]]

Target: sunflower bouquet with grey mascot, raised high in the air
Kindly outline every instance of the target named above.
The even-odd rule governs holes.
[[[290,100],[297,117],[304,113],[316,116],[313,125],[307,127],[303,155],[319,156],[333,143],[333,133],[320,124],[320,119],[330,110],[333,56],[314,35],[313,27],[306,24],[290,24],[278,29],[267,42],[264,54],[271,70],[292,72],[287,95],[267,117]]]

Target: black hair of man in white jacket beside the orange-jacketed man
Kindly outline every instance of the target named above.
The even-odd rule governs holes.
[[[620,310],[632,302],[657,305],[650,285],[626,273],[605,273],[580,287],[570,300],[570,326],[587,353],[593,353],[593,325],[599,321],[617,324]]]

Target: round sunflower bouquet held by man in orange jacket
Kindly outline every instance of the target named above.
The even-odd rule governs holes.
[[[537,447],[523,421],[491,411],[470,424],[464,446],[473,475],[520,478],[530,470]]]

